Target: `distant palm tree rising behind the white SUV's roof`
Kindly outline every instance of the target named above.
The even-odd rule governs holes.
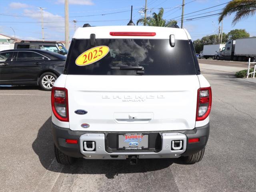
[[[158,27],[170,27],[172,25],[176,25],[177,21],[176,20],[170,20],[168,22],[166,22],[165,19],[163,19],[163,15],[164,15],[164,9],[160,8],[159,13],[153,13],[152,17],[147,17],[146,20],[145,18],[141,18],[137,21],[137,25],[140,24],[144,24],[144,22],[146,22],[146,25],[148,26],[158,26]]]

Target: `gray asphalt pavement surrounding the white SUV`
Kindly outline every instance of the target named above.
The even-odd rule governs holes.
[[[50,92],[0,89],[0,191],[256,191],[256,83],[234,78],[242,64],[200,61],[212,86],[210,137],[204,158],[54,160]]]

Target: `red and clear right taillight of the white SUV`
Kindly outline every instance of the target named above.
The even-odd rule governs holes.
[[[212,89],[211,87],[199,88],[197,92],[196,121],[205,120],[211,111]]]

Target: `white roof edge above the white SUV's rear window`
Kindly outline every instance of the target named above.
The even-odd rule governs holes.
[[[155,36],[111,36],[110,32],[155,32]],[[73,38],[89,39],[90,34],[95,34],[96,38],[132,38],[132,39],[169,39],[170,34],[174,34],[176,39],[191,39],[186,29],[170,27],[152,27],[152,26],[98,26],[98,27],[80,27],[76,30]]]

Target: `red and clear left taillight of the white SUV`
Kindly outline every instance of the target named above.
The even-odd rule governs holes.
[[[52,87],[52,112],[60,121],[68,122],[68,90]]]

